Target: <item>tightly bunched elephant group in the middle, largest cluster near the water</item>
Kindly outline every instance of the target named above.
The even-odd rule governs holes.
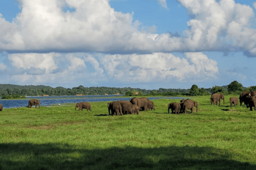
[[[130,101],[119,100],[108,103],[108,114],[119,116],[124,114],[139,114],[141,111],[148,111],[154,109],[155,105],[153,101],[150,101],[147,97],[132,98]],[[111,114],[110,114],[111,111]]]

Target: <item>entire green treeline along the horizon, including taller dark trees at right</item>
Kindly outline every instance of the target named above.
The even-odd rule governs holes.
[[[146,90],[140,88],[114,88],[114,87],[74,87],[74,88],[63,88],[50,86],[38,85],[38,86],[19,86],[14,84],[0,84],[0,95],[20,95],[20,96],[70,96],[70,95],[126,95],[126,96],[142,96],[142,95],[153,95],[153,96],[205,96],[210,95],[214,92],[221,92],[223,94],[241,94],[243,91],[256,90],[256,86],[245,88],[241,83],[237,81],[231,82],[228,86],[214,86],[212,88],[198,88],[194,84],[190,89],[164,89],[159,88],[158,90]]]

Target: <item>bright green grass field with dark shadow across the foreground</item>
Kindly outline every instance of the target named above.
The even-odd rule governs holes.
[[[179,115],[167,113],[178,99],[124,116],[108,116],[108,102],[4,109],[0,169],[256,169],[256,112],[229,97],[193,97],[198,113]]]

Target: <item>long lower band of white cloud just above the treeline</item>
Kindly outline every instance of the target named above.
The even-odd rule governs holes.
[[[185,53],[185,57],[170,53],[46,53],[37,56],[9,54],[8,58],[13,65],[11,78],[15,82],[33,84],[36,76],[38,84],[61,82],[67,87],[84,82],[92,86],[109,81],[125,84],[205,81],[215,79],[219,74],[217,62],[203,53]]]

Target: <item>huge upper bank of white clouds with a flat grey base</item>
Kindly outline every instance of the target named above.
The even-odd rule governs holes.
[[[20,2],[22,10],[12,22],[0,17],[0,50],[110,54],[246,50],[256,54],[256,30],[250,22],[253,9],[234,0],[178,0],[194,16],[180,36],[150,33],[155,25],[142,29],[142,23],[133,21],[133,13],[115,11],[108,0]],[[166,1],[158,2],[166,6]],[[72,10],[63,10],[67,6]]]

